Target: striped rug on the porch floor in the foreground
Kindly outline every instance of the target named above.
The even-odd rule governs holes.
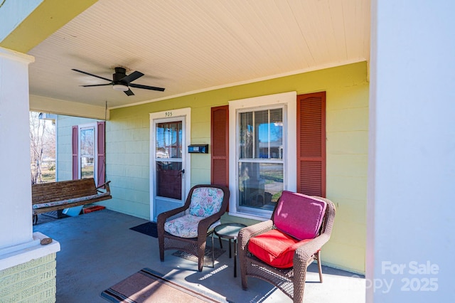
[[[202,292],[183,286],[175,280],[167,280],[159,272],[149,268],[139,270],[127,279],[109,287],[100,295],[109,302],[228,302],[218,294]]]

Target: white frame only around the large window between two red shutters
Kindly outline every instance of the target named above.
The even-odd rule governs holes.
[[[242,212],[237,203],[238,196],[238,156],[239,156],[239,112],[264,110],[271,107],[283,106],[283,132],[287,135],[283,138],[284,142],[284,190],[296,191],[296,92],[283,92],[275,95],[265,95],[261,97],[252,97],[241,100],[232,100],[229,102],[229,187],[230,201],[229,214],[242,218],[251,218],[255,220],[269,219],[272,211],[258,211],[257,213]],[[254,210],[254,208],[251,208]]]

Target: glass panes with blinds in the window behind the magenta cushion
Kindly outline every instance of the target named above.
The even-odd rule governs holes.
[[[281,196],[284,188],[283,112],[283,107],[279,107],[239,113],[240,208],[270,211]]]

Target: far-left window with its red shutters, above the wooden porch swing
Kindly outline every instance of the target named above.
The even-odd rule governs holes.
[[[73,179],[105,183],[105,122],[73,126]]]

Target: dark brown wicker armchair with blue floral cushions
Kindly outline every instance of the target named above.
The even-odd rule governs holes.
[[[210,209],[212,204],[210,199],[198,196],[205,194],[203,191],[216,195],[219,209]],[[220,218],[228,208],[229,196],[229,188],[226,186],[196,185],[188,193],[185,205],[160,213],[157,229],[161,262],[164,261],[164,250],[183,250],[198,257],[198,270],[202,271],[207,236],[213,232],[216,225],[220,224]],[[222,201],[219,201],[221,199]],[[195,213],[196,216],[193,216]],[[198,223],[193,223],[192,232],[187,233],[186,222],[195,222],[195,220],[198,220]],[[170,227],[171,225],[173,228]]]

